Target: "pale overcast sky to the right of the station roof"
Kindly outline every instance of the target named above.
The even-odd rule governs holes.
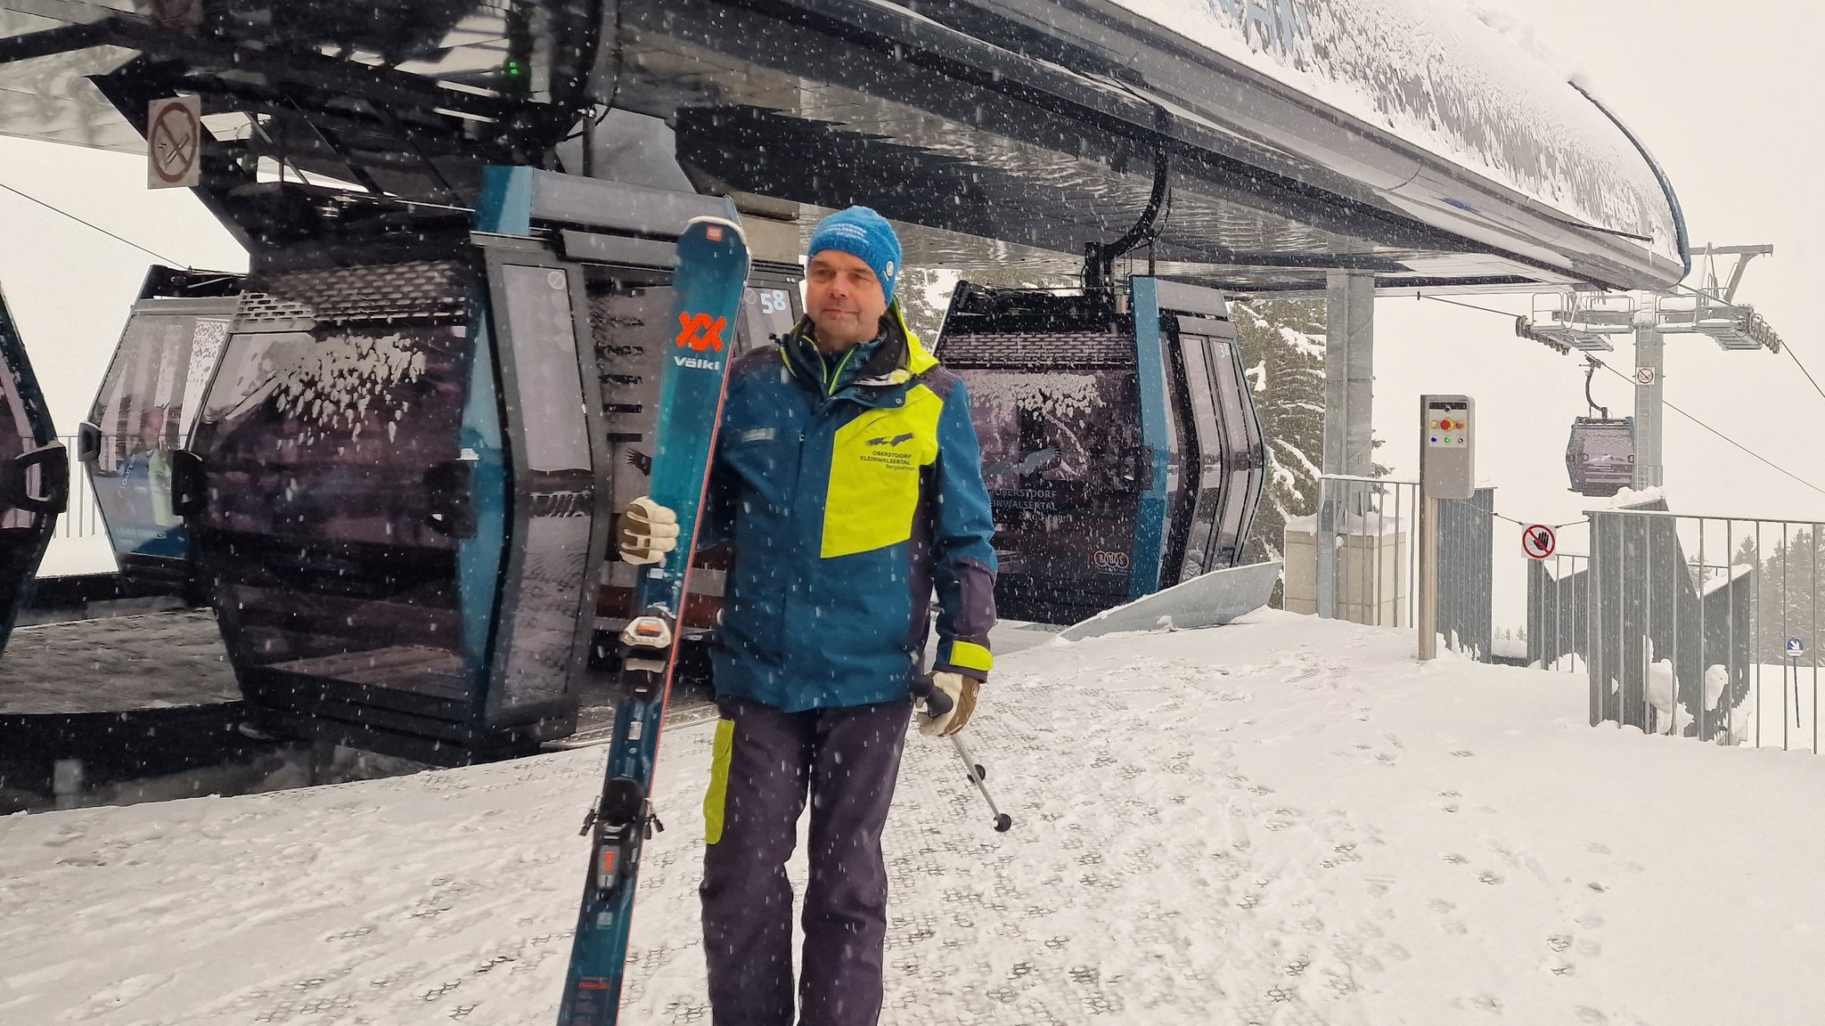
[[[1825,232],[1818,131],[1809,111],[1825,93],[1812,29],[1825,24],[1799,0],[1480,0],[1531,35],[1642,139],[1674,181],[1694,245],[1772,243],[1737,294],[1756,305],[1825,382],[1816,330]],[[1807,299],[1812,296],[1812,299]],[[1522,298],[1475,303],[1526,310]],[[1617,340],[1621,369],[1633,347]],[[1513,338],[1502,318],[1440,303],[1382,299],[1376,307],[1376,436],[1382,460],[1411,473],[1407,427],[1425,391],[1469,393],[1482,411],[1478,471],[1517,517],[1571,520],[1584,506],[1566,491],[1564,442],[1584,411],[1580,360]],[[1599,372],[1597,400],[1632,411],[1633,389]],[[1763,456],[1825,487],[1825,396],[1787,356],[1723,352],[1705,336],[1668,336],[1666,398]],[[1825,495],[1781,476],[1675,413],[1666,414],[1666,486],[1694,515],[1825,518]],[[1517,533],[1518,546],[1518,533]]]

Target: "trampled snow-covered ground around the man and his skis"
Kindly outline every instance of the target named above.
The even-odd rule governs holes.
[[[887,1024],[1801,1024],[1825,763],[1584,725],[1571,674],[1285,613],[1007,655],[996,834],[911,738]],[[666,736],[628,1022],[708,1022],[708,725]],[[549,1024],[600,750],[0,820],[0,1022]]]

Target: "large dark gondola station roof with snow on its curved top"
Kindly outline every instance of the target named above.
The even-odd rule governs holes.
[[[1688,265],[1628,130],[1444,0],[0,0],[0,131],[142,152],[173,91],[219,144],[454,204],[604,106],[655,115],[699,188],[871,203],[965,272],[1133,228],[1243,292]]]

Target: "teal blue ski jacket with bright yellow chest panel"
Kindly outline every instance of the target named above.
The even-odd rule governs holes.
[[[717,694],[799,712],[907,697],[938,595],[933,668],[986,679],[995,517],[964,382],[898,303],[861,369],[801,321],[728,376],[701,544],[734,568]]]

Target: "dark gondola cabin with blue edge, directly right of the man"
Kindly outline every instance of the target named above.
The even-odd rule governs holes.
[[[936,352],[982,442],[1002,617],[1069,624],[1241,562],[1267,458],[1221,292],[964,283]]]

